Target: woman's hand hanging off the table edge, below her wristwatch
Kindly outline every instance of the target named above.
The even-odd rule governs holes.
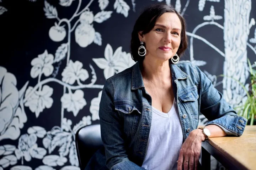
[[[202,141],[205,140],[201,129],[190,132],[187,139],[181,146],[180,156],[178,158],[178,170],[197,170],[199,157],[201,153]]]

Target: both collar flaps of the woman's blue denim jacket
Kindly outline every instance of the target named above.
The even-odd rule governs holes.
[[[145,87],[143,83],[142,74],[140,71],[140,66],[142,61],[138,61],[134,64],[132,69],[132,90]],[[176,64],[170,64],[172,77],[174,79],[187,79],[188,75],[184,73]]]

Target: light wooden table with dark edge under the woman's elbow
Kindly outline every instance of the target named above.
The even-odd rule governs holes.
[[[229,170],[256,170],[256,125],[240,137],[213,137],[202,142],[202,169],[210,170],[210,155]]]

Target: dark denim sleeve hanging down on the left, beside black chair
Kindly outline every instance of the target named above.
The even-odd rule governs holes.
[[[107,79],[100,101],[99,117],[101,138],[105,147],[106,166],[110,170],[145,170],[128,159],[126,153],[122,118],[113,104],[114,91],[111,81]]]

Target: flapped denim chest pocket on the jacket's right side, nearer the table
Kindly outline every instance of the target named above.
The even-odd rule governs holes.
[[[199,95],[198,95],[197,87],[194,86],[194,87],[188,88],[188,90],[185,93],[183,93],[181,96],[179,96],[179,98],[187,114],[191,115],[191,117],[193,119],[196,119],[197,121],[198,115],[199,115],[198,101],[197,101],[199,98]]]

